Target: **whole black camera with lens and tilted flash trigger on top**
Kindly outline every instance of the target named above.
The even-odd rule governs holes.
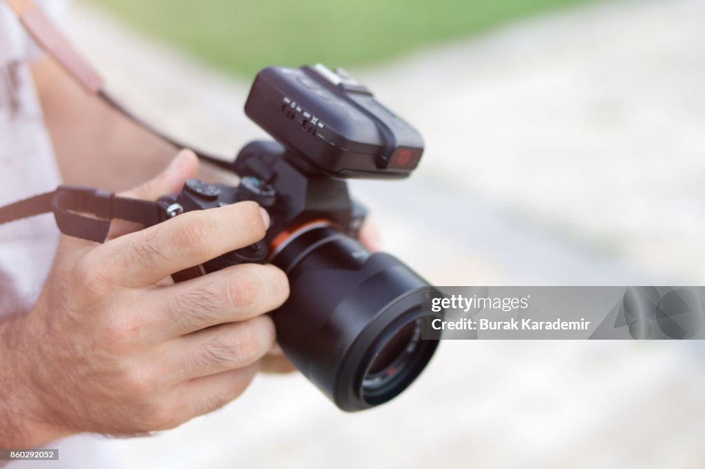
[[[344,178],[401,178],[421,158],[419,133],[342,70],[317,65],[262,70],[245,113],[276,142],[251,142],[233,163],[240,185],[188,180],[159,200],[168,216],[253,200],[271,227],[176,280],[228,265],[271,262],[290,298],[271,313],[294,365],[344,411],[393,399],[425,368],[438,341],[422,340],[429,284],[398,259],[357,240],[364,208]]]

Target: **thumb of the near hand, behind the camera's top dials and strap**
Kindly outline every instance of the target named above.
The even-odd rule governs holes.
[[[167,194],[176,194],[183,187],[185,180],[197,175],[198,158],[193,151],[182,150],[164,171],[134,189],[121,192],[118,196],[129,199],[157,200]],[[140,230],[141,227],[138,223],[114,220],[110,226],[108,239]]]

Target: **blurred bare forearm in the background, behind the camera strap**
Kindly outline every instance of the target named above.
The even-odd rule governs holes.
[[[32,66],[63,181],[122,191],[154,177],[176,154],[170,144],[85,92],[49,59]],[[202,179],[216,180],[204,165]]]

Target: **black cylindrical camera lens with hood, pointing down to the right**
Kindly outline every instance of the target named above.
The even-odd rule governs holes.
[[[290,297],[272,317],[296,367],[344,411],[393,399],[414,382],[437,340],[421,338],[429,284],[388,254],[317,223],[291,235],[272,262]]]

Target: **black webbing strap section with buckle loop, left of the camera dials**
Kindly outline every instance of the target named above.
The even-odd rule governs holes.
[[[92,187],[62,185],[54,192],[0,208],[0,225],[49,212],[54,213],[56,226],[64,235],[97,243],[108,237],[112,218],[145,226],[156,225],[167,218],[164,208],[157,202],[119,197]]]

